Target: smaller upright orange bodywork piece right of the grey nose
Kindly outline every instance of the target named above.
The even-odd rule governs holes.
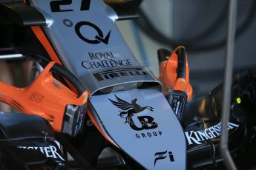
[[[168,88],[171,87],[174,90],[180,90],[186,92],[188,101],[192,97],[193,89],[191,84],[189,84],[189,69],[188,69],[188,60],[186,54],[186,79],[177,78],[177,54],[176,51],[179,48],[185,47],[177,47],[174,52],[171,53],[171,56],[168,60],[163,61],[160,64],[160,77],[159,80],[163,84],[163,92],[166,94],[168,92]]]

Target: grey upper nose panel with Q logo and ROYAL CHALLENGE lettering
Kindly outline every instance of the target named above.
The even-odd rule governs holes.
[[[82,80],[91,94],[105,85],[126,82],[125,78],[116,78],[102,83],[91,72],[140,66],[114,24],[116,13],[102,0],[92,0],[89,10],[80,10],[81,1],[60,5],[60,10],[73,10],[65,12],[52,12],[50,2],[53,1],[31,0],[47,18],[48,24],[43,29],[62,63]],[[149,76],[126,79],[128,82],[154,80]]]

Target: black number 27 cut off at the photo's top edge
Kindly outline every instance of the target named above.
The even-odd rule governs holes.
[[[75,0],[77,1],[77,0]],[[66,12],[73,10],[61,10],[61,5],[72,4],[72,0],[62,0],[62,1],[50,1],[50,10],[52,12]],[[91,0],[82,0],[80,10],[89,10],[90,9]]]

